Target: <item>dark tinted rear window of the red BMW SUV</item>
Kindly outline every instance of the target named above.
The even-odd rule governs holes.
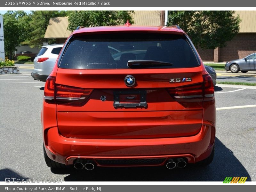
[[[115,50],[115,51],[113,51]],[[121,69],[128,60],[154,60],[171,66],[147,68],[188,68],[199,61],[185,35],[156,33],[112,33],[72,38],[60,60],[60,68]]]

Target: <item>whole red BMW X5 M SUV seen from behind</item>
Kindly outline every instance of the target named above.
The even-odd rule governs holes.
[[[178,26],[77,29],[45,83],[53,168],[210,164],[215,122],[212,78]]]

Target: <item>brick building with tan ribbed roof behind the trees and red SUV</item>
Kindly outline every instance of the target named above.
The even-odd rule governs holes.
[[[161,11],[134,11],[133,25],[160,26]],[[216,49],[197,49],[203,61],[226,62],[242,59],[256,52],[256,11],[236,11],[234,16],[241,18],[240,31],[227,42],[226,47]],[[44,38],[54,38],[56,43],[65,43],[71,31],[67,30],[67,17],[51,18]],[[225,26],[223,26],[225,30]]]

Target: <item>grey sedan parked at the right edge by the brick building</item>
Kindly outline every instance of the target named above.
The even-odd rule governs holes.
[[[252,53],[243,59],[228,61],[225,64],[225,70],[231,71],[232,73],[237,73],[238,71],[242,73],[256,71],[256,53]]]

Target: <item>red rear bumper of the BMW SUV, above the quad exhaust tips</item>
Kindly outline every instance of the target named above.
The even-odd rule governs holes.
[[[194,136],[160,139],[76,139],[59,134],[57,127],[44,132],[47,155],[62,164],[73,164],[76,158],[92,159],[101,166],[99,159],[141,159],[187,158],[188,163],[196,163],[207,158],[215,139],[215,128],[202,125]],[[141,166],[141,165],[140,165]]]

